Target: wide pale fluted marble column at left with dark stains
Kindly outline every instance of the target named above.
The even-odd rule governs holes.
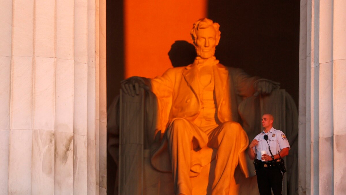
[[[106,1],[0,15],[0,194],[106,194]]]

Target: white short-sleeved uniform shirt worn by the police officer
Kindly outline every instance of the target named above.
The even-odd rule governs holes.
[[[256,137],[254,138],[254,139],[257,139],[257,141],[258,141],[258,145],[253,147],[253,150],[256,153],[256,158],[258,160],[262,160],[262,156],[261,156],[262,150],[267,151],[267,154],[271,156],[271,154],[268,150],[268,144],[263,137],[264,135],[268,135],[267,141],[268,141],[268,144],[270,146],[270,150],[272,151],[273,155],[279,153],[285,147],[288,147],[289,149],[291,149],[290,144],[287,141],[286,135],[282,131],[276,130],[272,127],[268,133],[265,133],[263,130],[263,132],[256,135]]]

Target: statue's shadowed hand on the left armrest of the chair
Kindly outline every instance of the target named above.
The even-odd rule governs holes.
[[[140,88],[149,90],[149,86],[145,85],[143,78],[137,76],[130,77],[126,80],[122,80],[121,88],[125,94],[129,94],[131,96],[138,95]]]

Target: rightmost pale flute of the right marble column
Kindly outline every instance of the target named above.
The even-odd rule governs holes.
[[[346,1],[333,1],[334,192],[346,191]]]

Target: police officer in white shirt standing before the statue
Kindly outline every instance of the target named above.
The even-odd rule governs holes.
[[[273,128],[273,115],[265,114],[261,120],[264,130],[250,143],[248,155],[254,160],[260,194],[271,195],[271,189],[274,195],[281,194],[283,173],[278,161],[288,155],[290,144],[282,131]]]

